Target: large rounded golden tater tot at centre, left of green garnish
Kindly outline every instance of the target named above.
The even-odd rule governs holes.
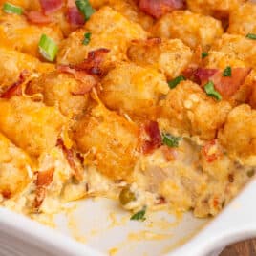
[[[110,109],[133,116],[154,116],[160,96],[168,93],[164,75],[152,68],[122,63],[101,81],[100,98]]]

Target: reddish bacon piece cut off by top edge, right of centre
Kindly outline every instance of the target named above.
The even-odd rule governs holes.
[[[183,8],[183,0],[139,0],[139,9],[157,19],[167,12]]]

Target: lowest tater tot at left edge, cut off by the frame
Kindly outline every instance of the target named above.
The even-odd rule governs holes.
[[[31,181],[32,160],[0,133],[0,194],[10,199]]]

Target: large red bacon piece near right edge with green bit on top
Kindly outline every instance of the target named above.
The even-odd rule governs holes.
[[[251,68],[233,68],[232,76],[223,76],[221,70],[200,68],[195,76],[200,79],[202,85],[209,80],[212,81],[215,89],[226,99],[240,89],[250,72]]]

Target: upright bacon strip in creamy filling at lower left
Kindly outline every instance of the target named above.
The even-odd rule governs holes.
[[[37,172],[37,179],[35,181],[36,191],[34,207],[38,209],[43,203],[46,195],[47,187],[53,182],[54,168],[44,172]]]

